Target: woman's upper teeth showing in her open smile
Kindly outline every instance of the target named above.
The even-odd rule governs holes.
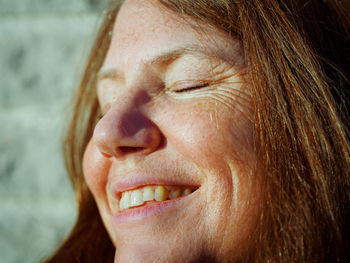
[[[120,210],[127,209],[129,207],[135,207],[143,205],[147,201],[165,201],[168,198],[174,199],[179,196],[185,196],[192,193],[190,188],[180,187],[164,187],[158,186],[146,186],[136,190],[130,190],[122,193],[122,198],[119,202]]]

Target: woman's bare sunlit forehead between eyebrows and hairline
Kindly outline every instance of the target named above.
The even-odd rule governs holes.
[[[105,66],[137,63],[184,45],[228,49],[232,54],[237,42],[207,24],[181,18],[156,0],[127,0],[115,22]]]

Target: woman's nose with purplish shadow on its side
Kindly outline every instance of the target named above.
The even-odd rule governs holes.
[[[161,131],[141,111],[141,106],[149,100],[146,93],[139,93],[133,100],[120,98],[110,107],[93,134],[93,140],[103,155],[122,158],[149,154],[160,146]]]

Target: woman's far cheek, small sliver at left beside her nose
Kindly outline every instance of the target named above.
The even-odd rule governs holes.
[[[93,141],[90,141],[84,153],[83,173],[96,202],[98,197],[105,195],[110,166],[110,161],[100,153]]]

